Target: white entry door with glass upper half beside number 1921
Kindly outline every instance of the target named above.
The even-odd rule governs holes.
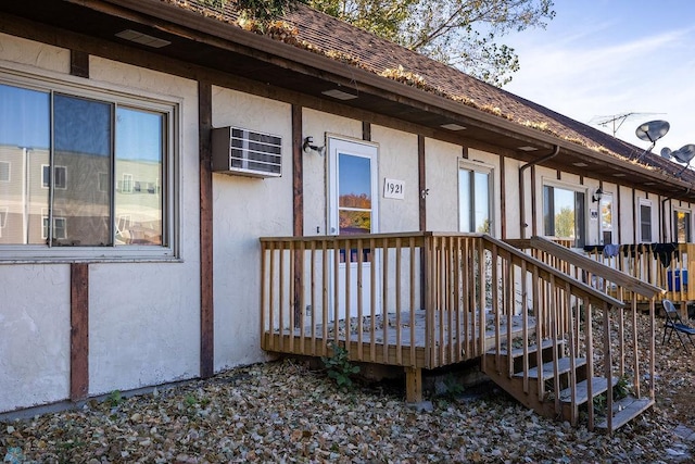
[[[375,234],[378,231],[378,148],[374,143],[328,137],[328,228],[331,235]],[[366,246],[368,243],[365,243]],[[364,248],[362,265],[358,264],[357,246],[340,251],[338,275],[333,285],[338,286],[339,317],[355,317],[358,314],[359,281],[362,283],[363,315],[370,313],[371,267],[376,265],[375,250]],[[358,267],[361,266],[361,268]],[[362,279],[358,274],[362,271]],[[375,272],[378,272],[375,268]],[[350,273],[350,288],[346,288],[346,273]],[[377,279],[378,281],[378,279]],[[350,292],[350,311],[346,311],[346,292]],[[331,292],[332,293],[332,292]],[[379,308],[375,309],[378,312]],[[350,314],[348,316],[348,313]],[[331,312],[331,319],[334,313]]]

